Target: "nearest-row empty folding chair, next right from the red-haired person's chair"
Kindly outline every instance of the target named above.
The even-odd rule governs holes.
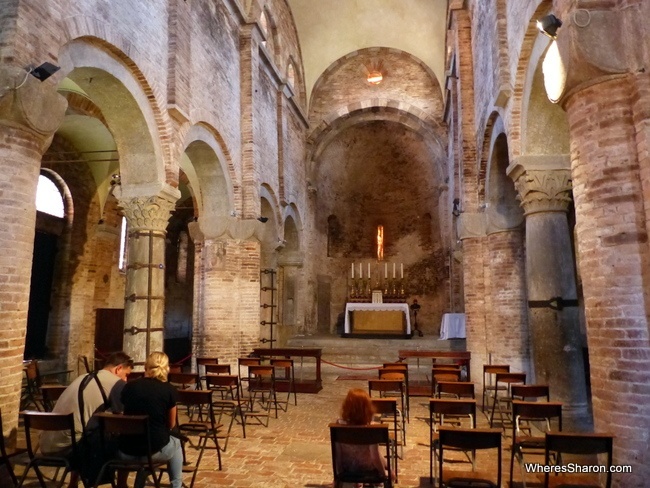
[[[440,427],[438,429],[440,449],[439,455],[439,486],[445,488],[455,487],[501,487],[501,429],[458,429]],[[446,471],[444,468],[445,449],[461,451],[496,449],[496,476],[488,471],[476,471],[476,456],[472,456],[472,471]],[[494,461],[485,462],[486,466],[494,466]]]

